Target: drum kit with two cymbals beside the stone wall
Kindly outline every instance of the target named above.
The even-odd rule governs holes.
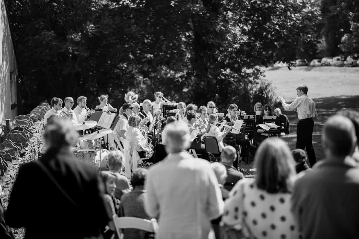
[[[102,137],[112,133],[112,130],[100,129],[91,134],[85,134],[85,130],[94,128],[96,125],[97,121],[94,120],[87,120],[74,125],[74,129],[83,131],[83,135],[78,138],[77,147],[71,148],[71,151],[80,161],[94,165],[99,170],[106,170],[109,150],[101,148]]]

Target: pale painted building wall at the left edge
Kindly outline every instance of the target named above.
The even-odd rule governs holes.
[[[10,86],[10,72],[12,72],[13,85]],[[0,121],[14,120],[18,113],[18,107],[11,110],[11,104],[17,102],[17,63],[13,42],[11,40],[8,16],[5,3],[0,0]],[[11,102],[10,89],[13,100]]]

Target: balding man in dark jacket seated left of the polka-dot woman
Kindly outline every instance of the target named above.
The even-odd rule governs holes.
[[[233,186],[242,178],[243,173],[239,172],[237,168],[233,167],[233,162],[237,158],[237,151],[234,147],[227,145],[223,148],[221,153],[221,163],[227,170],[227,179],[224,183],[224,187],[227,190],[231,190]]]

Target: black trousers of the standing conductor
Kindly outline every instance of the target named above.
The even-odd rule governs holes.
[[[313,148],[314,120],[313,118],[299,120],[297,125],[297,149],[306,149],[309,159],[309,164],[313,167],[314,163],[317,162],[315,152]]]

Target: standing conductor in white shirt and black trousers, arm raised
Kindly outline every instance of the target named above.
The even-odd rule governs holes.
[[[314,120],[317,118],[317,110],[315,102],[307,96],[308,87],[300,85],[297,87],[298,97],[292,104],[286,104],[282,96],[278,96],[280,102],[285,110],[297,109],[299,122],[297,125],[297,146],[298,149],[306,149],[308,154],[309,163],[313,167],[317,162],[312,143]]]

